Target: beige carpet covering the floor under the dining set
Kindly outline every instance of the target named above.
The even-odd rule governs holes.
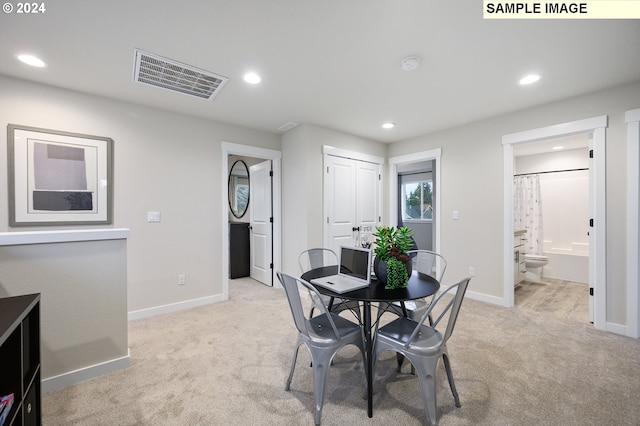
[[[284,391],[295,329],[283,291],[243,279],[230,295],[131,322],[131,367],[43,395],[43,424],[312,425],[305,350]],[[441,367],[439,424],[639,425],[640,341],[521,302],[506,309],[465,300],[449,341],[462,407]],[[394,367],[393,354],[383,354],[369,419],[357,350],[340,352],[323,424],[424,424],[417,379],[408,365]]]

